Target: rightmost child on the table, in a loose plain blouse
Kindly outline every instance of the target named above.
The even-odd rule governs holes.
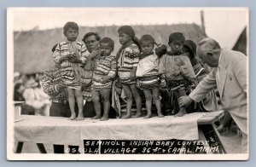
[[[163,55],[160,59],[161,87],[171,89],[177,99],[186,95],[186,88],[195,82],[195,73],[188,56],[183,55],[183,43],[185,37],[180,32],[174,32],[169,36],[169,46],[172,51]],[[186,108],[181,107],[175,117],[186,114]]]

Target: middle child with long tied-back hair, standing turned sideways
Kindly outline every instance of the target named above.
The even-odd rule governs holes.
[[[136,71],[139,61],[138,55],[140,49],[139,41],[135,37],[135,33],[131,26],[121,26],[118,30],[119,43],[122,47],[117,54],[118,59],[118,75],[120,83],[125,90],[127,97],[126,115],[123,118],[131,118],[132,96],[137,105],[136,118],[142,115],[142,99],[136,87]]]

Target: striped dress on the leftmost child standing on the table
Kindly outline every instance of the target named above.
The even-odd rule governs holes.
[[[55,48],[52,58],[55,63],[60,64],[61,57],[67,56],[71,53],[75,53],[79,60],[82,60],[83,63],[85,63],[87,57],[89,56],[86,54],[85,45],[83,43],[74,41],[59,43]],[[72,63],[68,60],[61,62],[62,83],[67,85],[68,88],[81,88],[81,83],[83,82],[83,80],[81,80],[82,72],[83,69],[78,63]]]

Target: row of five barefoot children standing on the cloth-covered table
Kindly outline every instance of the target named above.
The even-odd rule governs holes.
[[[82,120],[84,117],[80,75],[90,55],[86,54],[84,44],[77,42],[79,26],[76,23],[67,22],[63,30],[67,41],[56,46],[53,60],[61,65],[62,83],[68,89],[68,102],[72,112],[70,119]],[[178,98],[186,95],[185,89],[189,85],[196,83],[189,57],[183,52],[183,34],[174,32],[169,36],[171,52],[166,52],[165,45],[156,45],[151,35],[143,35],[138,39],[131,26],[119,27],[118,34],[122,46],[117,55],[112,55],[113,39],[103,37],[99,43],[100,54],[95,56],[91,66],[91,95],[96,111],[94,118],[108,120],[109,96],[114,79],[119,79],[125,91],[126,114],[122,118],[131,118],[133,98],[137,106],[135,117],[142,117],[142,98],[138,89],[143,89],[146,98],[147,115],[144,118],[152,117],[152,99],[158,117],[164,117],[161,111],[160,88],[172,90]],[[187,52],[189,54],[190,50]],[[75,98],[79,107],[77,118],[74,112]],[[186,109],[181,107],[175,116],[181,117],[185,113]]]

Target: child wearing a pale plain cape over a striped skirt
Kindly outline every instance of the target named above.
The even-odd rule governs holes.
[[[159,95],[159,58],[153,52],[154,38],[150,35],[143,35],[140,39],[142,53],[139,56],[136,76],[138,86],[143,89],[146,97],[146,107],[148,114],[145,118],[151,118],[152,94],[158,117],[164,117],[161,112],[160,95]]]

